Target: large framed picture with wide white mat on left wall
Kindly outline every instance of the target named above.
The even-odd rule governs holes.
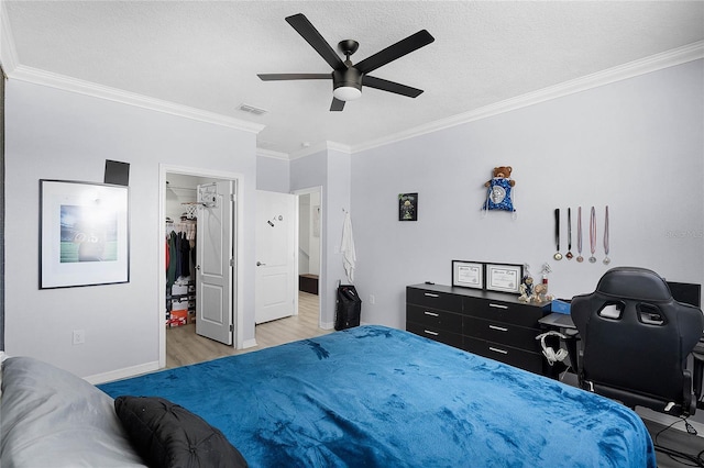
[[[40,180],[40,289],[130,281],[129,189]]]

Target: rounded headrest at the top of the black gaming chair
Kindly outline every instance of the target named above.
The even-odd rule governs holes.
[[[623,299],[669,301],[670,287],[657,272],[638,267],[616,267],[606,271],[596,291]]]

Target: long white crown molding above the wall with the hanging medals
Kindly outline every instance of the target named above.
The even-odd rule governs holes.
[[[404,140],[438,132],[440,130],[450,129],[481,119],[486,119],[504,112],[510,112],[513,110],[526,108],[528,105],[574,94],[616,81],[623,81],[629,78],[646,75],[652,71],[658,71],[669,67],[674,67],[676,65],[682,65],[688,62],[693,62],[701,58],[704,58],[704,41],[694,42],[692,44],[673,48],[661,54],[656,54],[646,58],[641,58],[639,60],[629,62],[617,67],[597,71],[592,75],[586,75],[581,78],[543,88],[538,91],[521,94],[516,98],[510,98],[494,104],[485,105],[483,108],[453,115],[448,119],[438,120],[425,125],[416,126],[414,129],[408,129],[404,132],[387,135],[382,138],[362,143],[360,145],[354,145],[351,147],[351,152],[352,154],[354,154],[378,146],[388,145],[391,143],[397,143]]]

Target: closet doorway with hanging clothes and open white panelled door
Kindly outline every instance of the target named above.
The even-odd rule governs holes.
[[[160,367],[166,366],[167,332],[174,327],[233,347],[242,342],[235,261],[240,179],[233,174],[161,167]],[[179,247],[169,246],[174,239]]]

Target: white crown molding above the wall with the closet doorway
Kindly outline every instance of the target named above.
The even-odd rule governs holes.
[[[57,88],[64,91],[91,96],[94,98],[106,99],[109,101],[148,109],[152,111],[197,120],[200,122],[242,130],[244,132],[258,133],[264,130],[264,125],[260,123],[252,123],[215,112],[190,108],[188,105],[176,104],[174,102],[163,101],[161,99],[154,99],[134,92],[128,92],[117,88],[97,85],[90,81],[85,81],[81,79],[72,78],[37,68],[26,67],[24,65],[15,66],[12,71],[8,73],[8,77],[10,79],[16,79],[35,85]]]

